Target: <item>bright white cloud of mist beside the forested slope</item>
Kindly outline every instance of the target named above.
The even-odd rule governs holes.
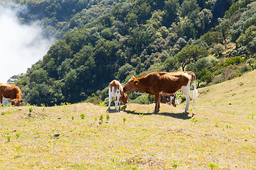
[[[0,83],[6,83],[16,74],[26,73],[53,44],[52,40],[41,38],[42,28],[36,22],[21,25],[16,16],[18,10],[26,9],[16,6],[11,10],[0,4]]]

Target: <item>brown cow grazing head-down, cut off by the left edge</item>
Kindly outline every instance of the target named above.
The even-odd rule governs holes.
[[[3,97],[11,98],[11,105],[21,106],[21,89],[14,84],[0,84],[0,103],[3,105]]]

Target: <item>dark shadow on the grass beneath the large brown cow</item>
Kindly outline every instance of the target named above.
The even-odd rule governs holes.
[[[183,113],[156,113],[156,112],[152,112],[152,113],[137,113],[135,111],[127,111],[125,108],[121,108],[121,111],[124,111],[128,114],[133,114],[133,115],[165,115],[165,116],[169,116],[171,118],[178,118],[178,119],[183,119],[183,120],[188,120],[193,118],[193,115],[195,115],[194,113],[192,113],[192,115],[189,115],[189,113],[187,112],[183,112]]]

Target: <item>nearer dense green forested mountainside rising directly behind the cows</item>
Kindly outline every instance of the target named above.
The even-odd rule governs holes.
[[[58,2],[68,1],[41,1],[38,6]],[[36,10],[35,2],[20,3],[34,3],[31,16],[42,11]],[[254,69],[256,3],[219,3],[123,1],[96,19],[87,18],[86,10],[80,11],[83,7],[74,7],[71,16],[51,8],[53,11],[42,20],[54,16],[60,24],[66,19],[70,33],[50,47],[43,60],[26,74],[11,81],[21,87],[28,103],[52,106],[84,101],[93,93],[104,100],[105,87],[112,79],[125,82],[132,74],[138,77],[152,71],[191,70],[199,86],[233,79]],[[225,16],[218,16],[218,6],[225,7],[221,11]],[[80,12],[75,14],[76,10]],[[139,93],[129,94],[130,98],[137,96]]]

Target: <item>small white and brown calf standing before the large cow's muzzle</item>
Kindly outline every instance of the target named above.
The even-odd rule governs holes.
[[[117,81],[117,80],[113,80],[113,81],[110,82],[110,86],[109,86],[109,106],[108,106],[109,110],[110,110],[110,105],[111,105],[111,102],[112,102],[112,97],[114,97],[115,111],[119,112],[121,101],[123,103],[127,103],[128,96],[127,96],[127,94],[124,94],[122,84],[120,84],[120,82]]]

